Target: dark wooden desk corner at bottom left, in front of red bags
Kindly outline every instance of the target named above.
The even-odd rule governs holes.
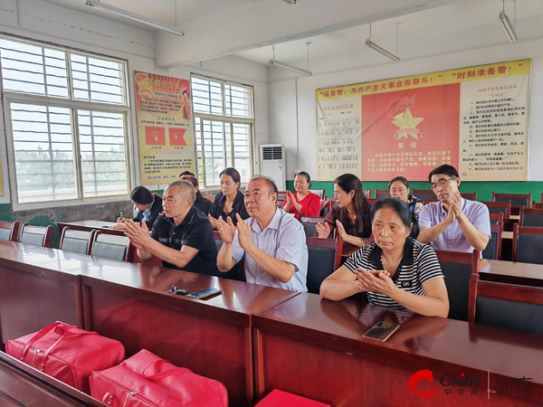
[[[105,404],[0,352],[0,405],[99,407]]]

